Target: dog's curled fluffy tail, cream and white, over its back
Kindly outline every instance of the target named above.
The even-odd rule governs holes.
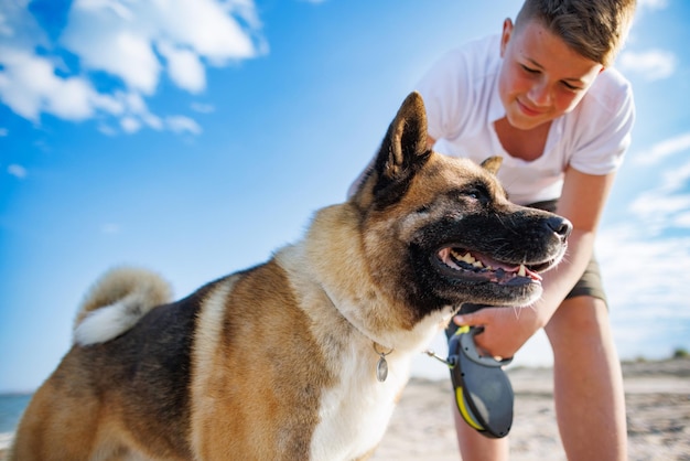
[[[144,269],[115,268],[87,292],[74,322],[74,342],[105,343],[125,333],[157,305],[171,299],[160,276]]]

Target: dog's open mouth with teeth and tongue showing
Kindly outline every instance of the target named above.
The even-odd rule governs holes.
[[[537,271],[550,264],[525,265],[498,261],[487,255],[457,247],[443,247],[436,253],[439,267],[452,277],[499,285],[519,286],[541,282]]]

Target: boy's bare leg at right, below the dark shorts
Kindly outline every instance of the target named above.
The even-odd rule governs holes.
[[[621,363],[604,301],[567,299],[546,326],[553,347],[556,412],[568,459],[626,460]]]

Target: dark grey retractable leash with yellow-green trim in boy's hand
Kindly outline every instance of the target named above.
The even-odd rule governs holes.
[[[451,368],[455,403],[465,422],[488,438],[506,437],[513,425],[513,386],[502,366],[513,358],[497,361],[482,356],[474,336],[483,328],[461,326],[450,339],[448,360],[432,351],[427,354]]]

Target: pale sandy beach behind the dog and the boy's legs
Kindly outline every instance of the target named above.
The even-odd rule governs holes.
[[[509,369],[516,394],[511,460],[565,460],[550,368]],[[690,461],[690,358],[624,363],[632,461]],[[457,461],[450,382],[413,378],[375,461]],[[4,443],[9,443],[6,440]],[[0,444],[0,459],[4,459]]]

